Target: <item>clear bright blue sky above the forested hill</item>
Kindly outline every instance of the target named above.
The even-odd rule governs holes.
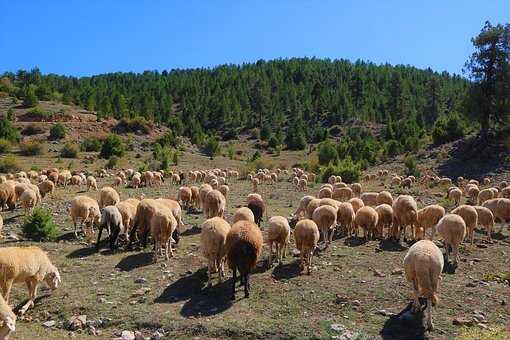
[[[460,73],[510,0],[0,0],[0,72],[209,67],[316,56]]]

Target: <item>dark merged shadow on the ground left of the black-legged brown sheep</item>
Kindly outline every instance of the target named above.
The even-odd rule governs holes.
[[[232,306],[230,294],[232,280],[205,287],[207,268],[201,268],[169,285],[154,303],[185,301],[180,314],[184,317],[211,316],[224,312]]]

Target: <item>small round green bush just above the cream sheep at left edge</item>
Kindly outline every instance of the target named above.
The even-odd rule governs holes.
[[[53,222],[51,212],[37,207],[23,221],[23,235],[34,241],[54,241],[60,230]]]

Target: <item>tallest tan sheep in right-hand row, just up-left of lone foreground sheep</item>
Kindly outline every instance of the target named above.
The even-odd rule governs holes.
[[[393,227],[392,237],[397,241],[400,241],[401,235],[404,235],[404,241],[406,239],[406,227],[411,226],[413,233],[413,239],[415,238],[414,225],[416,223],[416,216],[418,207],[416,201],[412,196],[400,195],[393,202]]]

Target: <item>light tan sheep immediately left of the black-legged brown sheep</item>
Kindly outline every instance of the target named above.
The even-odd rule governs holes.
[[[224,263],[227,254],[227,234],[230,224],[221,217],[213,217],[202,224],[200,249],[207,259],[207,286],[212,286],[212,274],[218,273],[220,283],[225,277]]]

